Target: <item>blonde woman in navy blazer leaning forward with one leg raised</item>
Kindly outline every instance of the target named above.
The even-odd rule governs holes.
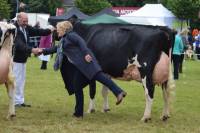
[[[69,21],[59,22],[57,24],[58,36],[61,37],[60,45],[49,49],[43,49],[44,55],[52,54],[61,47],[63,59],[60,64],[60,70],[68,89],[69,94],[75,93],[76,105],[74,116],[83,117],[83,88],[96,80],[106,85],[117,97],[116,105],[120,104],[126,96],[120,87],[118,87],[107,75],[105,75],[98,64],[92,51],[87,48],[86,42],[74,31]],[[58,54],[58,53],[57,53]]]

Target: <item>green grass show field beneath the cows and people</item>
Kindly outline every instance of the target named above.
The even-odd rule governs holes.
[[[74,96],[68,96],[59,72],[54,72],[51,61],[48,70],[41,71],[40,61],[32,57],[27,63],[25,101],[31,108],[17,108],[17,117],[6,120],[8,97],[0,86],[0,133],[200,133],[200,62],[184,62],[183,74],[176,81],[176,96],[171,118],[162,122],[163,99],[160,87],[155,90],[152,120],[140,121],[145,99],[140,83],[116,81],[127,91],[123,103],[109,93],[111,112],[102,113],[101,86],[98,84],[94,114],[83,120],[72,117]],[[85,88],[85,112],[88,108],[88,88]]]

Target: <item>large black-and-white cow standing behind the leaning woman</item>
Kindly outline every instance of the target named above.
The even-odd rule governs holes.
[[[103,71],[111,77],[142,82],[146,107],[142,121],[151,119],[156,84],[162,85],[164,109],[162,120],[169,118],[169,85],[172,80],[170,50],[174,34],[166,27],[77,23],[74,30],[93,51]],[[169,81],[170,80],[170,81]],[[93,99],[89,112],[93,109]],[[107,104],[107,102],[105,102]],[[108,108],[108,105],[104,105]]]

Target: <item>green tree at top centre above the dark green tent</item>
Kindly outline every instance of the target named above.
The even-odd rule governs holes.
[[[76,0],[75,5],[86,14],[94,14],[106,7],[111,7],[107,0]]]

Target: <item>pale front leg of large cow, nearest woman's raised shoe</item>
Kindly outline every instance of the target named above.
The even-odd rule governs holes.
[[[108,104],[108,87],[105,85],[102,86],[102,96],[103,96],[102,112],[108,112],[110,111],[109,104]]]

